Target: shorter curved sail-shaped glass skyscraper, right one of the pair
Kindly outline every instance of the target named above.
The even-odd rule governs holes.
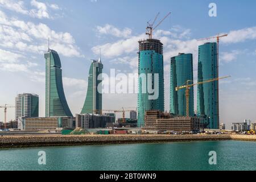
[[[102,110],[102,90],[100,88],[101,80],[98,80],[98,76],[102,73],[103,64],[101,58],[93,60],[90,64],[89,76],[88,76],[88,88],[84,106],[82,107],[81,114],[100,114]],[[100,91],[100,92],[98,92]]]

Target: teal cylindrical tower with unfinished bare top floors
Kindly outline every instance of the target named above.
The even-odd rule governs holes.
[[[148,88],[148,73],[152,74],[152,89],[158,91],[158,98],[149,100],[148,97],[155,93],[143,92],[142,87]],[[154,88],[154,74],[158,73],[158,88]],[[163,44],[156,39],[147,39],[139,42],[138,65],[138,127],[144,126],[144,114],[147,110],[164,111],[164,75],[163,75]],[[143,78],[142,75],[146,75]]]

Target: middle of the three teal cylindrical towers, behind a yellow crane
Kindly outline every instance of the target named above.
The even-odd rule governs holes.
[[[185,88],[178,91],[177,86],[182,86],[190,80],[193,84],[193,56],[191,53],[180,53],[171,57],[170,65],[170,113],[179,116],[186,116],[186,96]],[[194,115],[194,90],[189,89],[189,115]]]

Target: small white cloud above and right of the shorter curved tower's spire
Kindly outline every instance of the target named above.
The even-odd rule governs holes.
[[[119,30],[117,27],[114,27],[110,24],[106,24],[104,27],[97,26],[96,29],[98,34],[112,35],[118,38],[128,38],[131,35],[130,28],[124,28],[123,30]]]

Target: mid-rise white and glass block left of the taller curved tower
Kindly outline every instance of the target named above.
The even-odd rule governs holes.
[[[38,117],[39,97],[36,94],[22,93],[15,98],[15,119],[18,117]]]

